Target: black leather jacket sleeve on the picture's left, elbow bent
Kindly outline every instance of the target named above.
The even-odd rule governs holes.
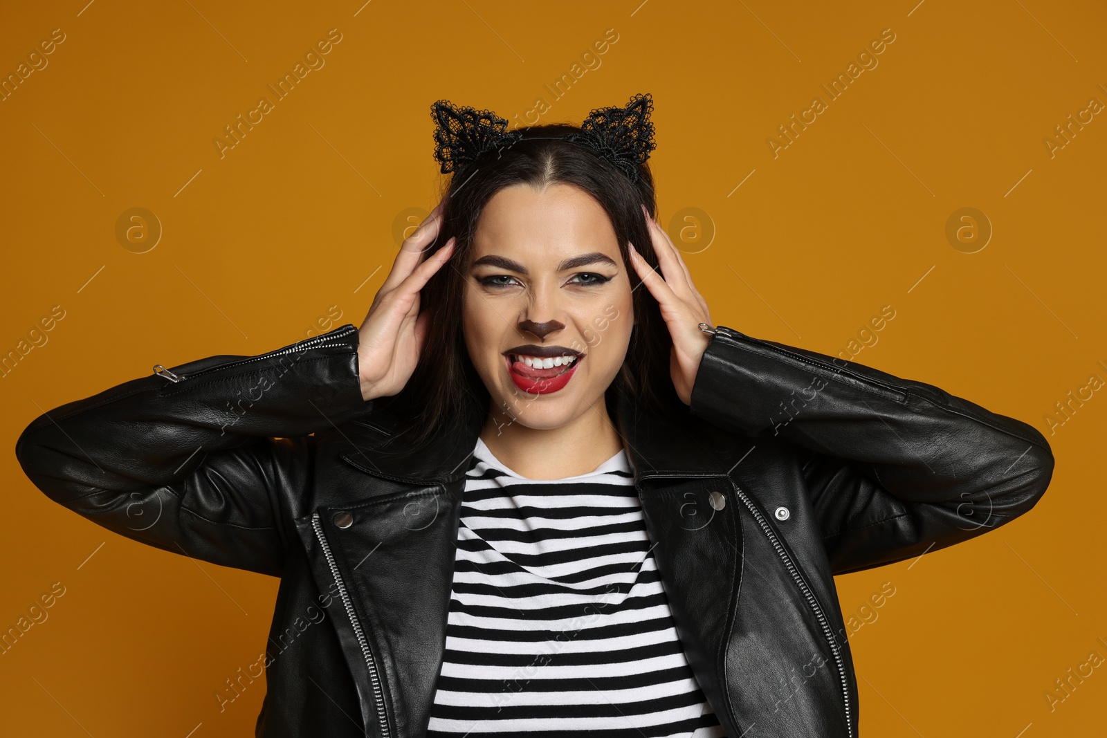
[[[132,380],[44,413],[15,455],[39,489],[108,530],[280,575],[296,540],[280,499],[307,486],[309,434],[371,408],[356,350],[348,324],[267,354]]]

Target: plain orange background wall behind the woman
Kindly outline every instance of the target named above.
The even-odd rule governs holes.
[[[395,232],[436,202],[435,100],[523,121],[544,97],[542,122],[579,123],[650,92],[659,220],[683,232],[716,323],[828,354],[856,340],[855,361],[1026,420],[1057,458],[1024,518],[838,579],[862,623],[861,735],[1101,735],[1107,398],[1089,387],[1063,425],[1045,416],[1107,380],[1107,116],[1044,143],[1107,103],[1101,3],[85,2],[18,3],[0,24],[4,75],[65,39],[0,102],[0,351],[64,311],[0,378],[0,628],[64,588],[0,655],[0,732],[252,735],[263,685],[223,713],[215,692],[256,658],[277,592],[50,502],[11,453],[33,417],[154,364],[261,353],[337,312],[360,323]],[[331,29],[324,65],[220,157],[224,126]],[[884,29],[878,65],[829,101],[819,85]],[[559,98],[546,87],[584,69]],[[827,110],[774,157],[767,139],[816,95]],[[164,231],[143,253],[141,230],[116,237],[134,207]],[[964,207],[994,229],[982,249],[972,224],[946,237]],[[699,220],[674,224],[683,208]],[[884,582],[894,595],[862,612]]]

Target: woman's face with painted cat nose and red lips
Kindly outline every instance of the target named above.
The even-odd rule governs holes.
[[[569,185],[505,187],[480,215],[466,269],[465,343],[503,422],[547,429],[603,412],[634,315],[599,202]]]

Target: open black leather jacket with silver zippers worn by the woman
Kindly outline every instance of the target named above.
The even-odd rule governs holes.
[[[44,414],[17,445],[34,484],[94,522],[281,578],[251,666],[267,738],[407,738],[430,719],[484,418],[430,451],[390,444],[356,346],[344,325],[163,370]],[[684,415],[623,402],[617,418],[677,633],[732,738],[856,738],[834,575],[1002,526],[1054,466],[1025,423],[723,326]]]

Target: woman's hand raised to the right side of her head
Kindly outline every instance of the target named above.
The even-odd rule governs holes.
[[[645,259],[630,246],[630,259],[639,278],[661,305],[661,316],[673,337],[673,352],[669,368],[673,375],[676,395],[685,405],[692,404],[692,386],[700,370],[700,360],[707,349],[711,336],[700,330],[699,323],[711,322],[707,302],[692,283],[692,274],[681,259],[680,249],[673,246],[669,235],[650,217],[642,206],[642,212],[650,228],[653,252],[658,254],[661,274],[654,271]],[[663,278],[662,278],[663,277]]]

